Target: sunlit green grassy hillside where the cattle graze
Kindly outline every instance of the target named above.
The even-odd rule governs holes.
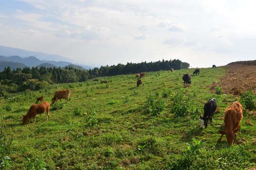
[[[217,144],[224,111],[233,95],[209,91],[225,75],[224,68],[201,68],[192,87],[182,88],[182,76],[194,69],[149,72],[137,87],[135,75],[99,77],[99,81],[51,85],[1,98],[4,132],[12,139],[12,168],[40,164],[47,170],[245,170],[256,166],[256,119],[244,110],[238,139],[247,144]],[[108,84],[102,84],[107,80]],[[55,91],[71,90],[70,101],[57,101],[36,123],[22,126],[37,97],[51,103]],[[204,103],[216,98],[220,112],[200,128]],[[179,103],[181,103],[179,105]],[[174,107],[176,106],[176,107]],[[244,105],[243,105],[244,107]],[[246,120],[251,123],[246,123]],[[38,165],[37,164],[37,165]],[[35,168],[36,169],[36,168]]]

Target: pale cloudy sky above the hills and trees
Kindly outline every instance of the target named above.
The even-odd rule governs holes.
[[[255,0],[0,0],[0,45],[100,67],[256,59]]]

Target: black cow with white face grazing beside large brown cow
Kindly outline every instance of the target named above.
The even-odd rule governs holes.
[[[210,123],[212,122],[212,115],[217,110],[217,102],[214,98],[211,98],[208,102],[204,104],[204,113],[203,117],[200,115],[200,123],[201,128],[207,128],[208,120],[210,119]]]

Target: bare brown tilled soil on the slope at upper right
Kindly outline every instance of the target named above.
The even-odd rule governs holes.
[[[222,67],[229,68],[226,70],[226,75],[220,77],[218,82],[223,93],[241,95],[252,89],[256,95],[256,60],[237,61]]]

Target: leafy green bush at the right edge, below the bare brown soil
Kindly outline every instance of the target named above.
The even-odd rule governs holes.
[[[254,95],[252,89],[250,91],[246,91],[241,95],[240,101],[242,103],[245,103],[246,109],[254,109],[255,108],[255,102],[256,102],[256,96]]]

